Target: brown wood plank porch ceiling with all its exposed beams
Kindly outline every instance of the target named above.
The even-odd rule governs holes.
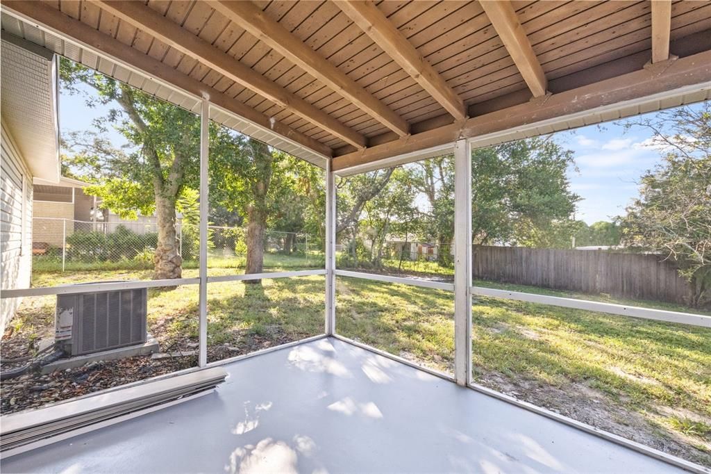
[[[455,130],[455,138],[476,133],[471,120],[544,100],[534,97],[711,50],[705,1],[52,0],[3,7],[341,162],[382,157],[437,130],[447,137],[444,130]]]

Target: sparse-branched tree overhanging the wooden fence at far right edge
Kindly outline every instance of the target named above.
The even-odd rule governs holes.
[[[680,107],[627,127],[653,131],[662,161],[641,177],[620,219],[627,246],[663,253],[694,283],[695,304],[711,299],[711,104]]]

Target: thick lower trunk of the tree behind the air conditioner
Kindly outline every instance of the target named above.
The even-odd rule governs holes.
[[[176,206],[175,201],[156,198],[156,226],[158,228],[158,245],[153,257],[154,280],[182,278],[183,258],[178,252],[176,238]]]

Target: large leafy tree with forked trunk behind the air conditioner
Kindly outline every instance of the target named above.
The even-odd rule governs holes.
[[[99,196],[104,206],[122,216],[156,214],[158,244],[154,278],[181,278],[182,258],[176,236],[176,201],[186,180],[197,176],[200,120],[181,107],[143,93],[95,70],[63,59],[60,63],[63,90],[82,93],[87,85],[87,105],[118,105],[97,123],[113,126],[133,145],[129,152],[83,148],[85,164],[101,176],[87,191]],[[90,159],[90,158],[93,158]]]

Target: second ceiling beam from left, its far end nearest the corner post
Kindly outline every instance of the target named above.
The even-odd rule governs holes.
[[[262,97],[299,115],[299,117],[317,127],[336,135],[336,137],[343,139],[354,147],[358,149],[365,147],[365,137],[360,133],[346,127],[331,115],[306,102],[306,100],[289,93],[289,91],[273,83],[260,73],[257,73],[257,71],[240,63],[239,60],[227,53],[223,53],[190,31],[186,31],[177,23],[173,23],[173,21],[149,6],[145,6],[142,2],[93,0],[93,3],[100,6],[107,13],[139,28],[144,33],[154,36],[171,46],[171,48],[175,48],[177,51],[198,60],[208,68],[234,80],[235,83],[245,88],[253,90],[255,93],[262,95]]]

